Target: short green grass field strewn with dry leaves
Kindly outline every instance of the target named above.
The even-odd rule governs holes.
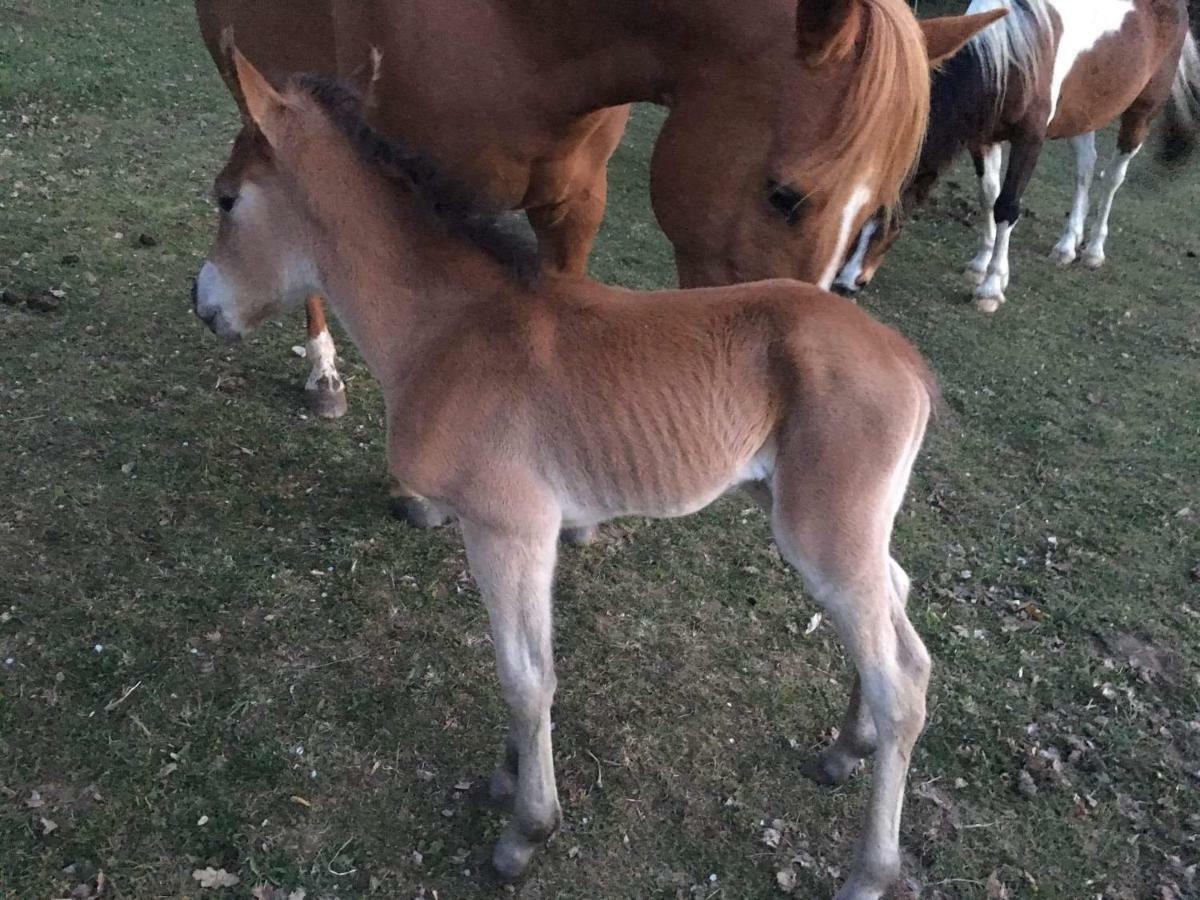
[[[602,280],[673,281],[659,121],[613,163]],[[227,346],[191,314],[234,130],[191,4],[0,0],[0,288],[61,294],[0,306],[0,896],[218,896],[208,866],[227,896],[504,894],[468,797],[504,710],[460,538],[388,517],[347,341],[330,424],[299,322]],[[895,898],[1200,895],[1200,161],[1134,163],[1093,274],[1048,260],[1068,157],[1000,314],[959,275],[968,166],[863,298],[953,410],[895,540],[936,659]],[[564,551],[566,821],[520,896],[768,898],[787,870],[832,894],[868,781],[798,773],[847,666],[749,508]]]

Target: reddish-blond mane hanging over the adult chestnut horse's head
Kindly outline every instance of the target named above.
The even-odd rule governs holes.
[[[844,181],[848,170],[872,172],[888,186],[878,202],[890,210],[899,204],[929,120],[925,38],[904,0],[859,0],[847,31],[809,64],[834,65],[856,55],[854,80],[840,104],[846,114],[804,168],[815,190]]]

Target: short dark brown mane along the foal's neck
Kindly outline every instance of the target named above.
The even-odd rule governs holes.
[[[416,150],[388,140],[362,119],[362,98],[341,82],[302,74],[295,83],[349,138],[359,157],[389,181],[415,196],[420,208],[449,235],[481,250],[503,264],[524,286],[541,275],[536,244],[515,230],[511,220]]]

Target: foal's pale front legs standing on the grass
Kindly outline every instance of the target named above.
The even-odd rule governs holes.
[[[562,818],[550,740],[556,686],[551,582],[558,527],[557,517],[545,511],[533,511],[518,528],[503,530],[463,523],[467,559],[487,605],[511,715],[504,762],[491,784],[493,798],[506,802],[512,794],[512,821],[492,853],[503,878],[526,870]]]

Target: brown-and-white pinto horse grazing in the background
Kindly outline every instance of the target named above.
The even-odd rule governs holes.
[[[1117,152],[1103,173],[1102,199],[1082,251],[1104,264],[1112,200],[1151,120],[1169,102],[1187,110],[1200,86],[1200,58],[1182,0],[973,0],[971,11],[1010,14],[973,38],[934,76],[929,134],[907,200],[920,203],[959,151],[968,148],[979,175],[984,233],[967,266],[976,306],[995,312],[1008,287],[1008,250],[1021,196],[1046,140],[1070,138],[1079,175],[1075,202],[1052,258],[1069,265],[1084,240],[1096,173],[1096,132],[1121,120]],[[1193,112],[1194,114],[1194,112]],[[1001,144],[1012,145],[1001,185]],[[899,235],[872,220],[863,229],[838,287],[870,281]]]

